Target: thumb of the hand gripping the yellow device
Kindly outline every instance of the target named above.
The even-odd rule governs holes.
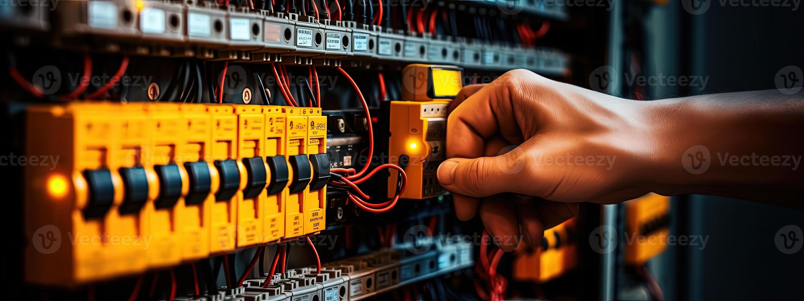
[[[497,193],[519,192],[523,179],[519,172],[524,162],[511,156],[451,158],[438,166],[441,187],[470,197],[487,197]]]

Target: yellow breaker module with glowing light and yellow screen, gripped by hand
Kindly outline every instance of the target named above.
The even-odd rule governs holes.
[[[388,163],[400,165],[408,177],[401,198],[423,199],[445,193],[436,170],[445,157],[447,105],[461,91],[463,69],[412,64],[404,67],[402,100],[384,102],[387,116],[380,131],[388,133]],[[397,189],[398,173],[388,177],[388,197]]]

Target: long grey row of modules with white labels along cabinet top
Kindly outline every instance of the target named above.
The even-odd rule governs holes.
[[[454,9],[455,3],[449,8]],[[197,57],[238,63],[362,62],[448,63],[507,71],[526,68],[561,74],[568,58],[560,51],[511,46],[452,36],[410,34],[353,21],[269,14],[211,1],[89,0],[47,6],[6,7],[0,24],[47,32],[55,44],[136,55]],[[54,14],[48,18],[47,14]],[[48,20],[53,20],[53,24]],[[87,39],[91,37],[92,39]],[[111,46],[114,45],[114,46]],[[83,48],[82,48],[83,49]]]

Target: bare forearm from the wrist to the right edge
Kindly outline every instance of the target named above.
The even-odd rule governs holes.
[[[655,120],[649,139],[657,156],[647,173],[657,178],[643,183],[651,190],[775,204],[804,193],[802,96],[738,92],[641,106]]]

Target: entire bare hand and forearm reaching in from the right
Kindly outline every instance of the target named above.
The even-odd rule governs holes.
[[[449,110],[437,175],[457,217],[479,213],[531,246],[580,201],[692,193],[804,208],[800,94],[626,100],[515,70],[464,87]]]

